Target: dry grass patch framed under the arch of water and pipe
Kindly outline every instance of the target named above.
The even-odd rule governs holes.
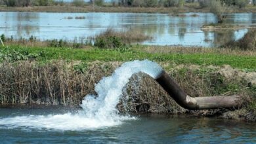
[[[118,105],[121,111],[133,113],[184,113],[161,86],[144,73],[133,75]],[[123,104],[125,103],[125,104]]]

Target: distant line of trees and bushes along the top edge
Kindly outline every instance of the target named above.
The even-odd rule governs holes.
[[[121,7],[182,7],[184,3],[199,3],[200,7],[209,7],[212,1],[219,0],[112,0],[114,6]],[[245,7],[249,0],[220,0],[222,5],[237,6],[239,8]],[[252,1],[256,5],[256,0]],[[28,7],[28,6],[47,6],[47,5],[63,5],[63,1],[54,0],[0,0],[1,5],[7,7]],[[213,2],[214,3],[214,2]],[[73,0],[72,5],[77,7],[88,5],[84,0]],[[104,5],[104,0],[90,0],[91,5]]]

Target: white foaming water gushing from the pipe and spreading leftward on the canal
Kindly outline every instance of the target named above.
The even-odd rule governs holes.
[[[117,126],[124,120],[135,119],[119,115],[116,105],[123,88],[135,73],[147,73],[157,79],[163,70],[158,63],[149,60],[125,62],[110,77],[103,77],[95,84],[95,95],[83,99],[78,113],[64,115],[26,115],[0,118],[0,128],[35,128],[50,130],[87,130]]]

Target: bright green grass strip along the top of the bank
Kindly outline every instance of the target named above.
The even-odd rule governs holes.
[[[72,49],[72,48],[53,48],[53,47],[26,47],[9,46],[1,47],[2,53],[9,53],[10,50],[33,56],[37,61],[48,60],[81,60],[85,62],[93,61],[131,61],[131,60],[153,60],[156,62],[169,62],[175,64],[196,64],[196,65],[231,65],[247,71],[256,71],[256,56],[236,56],[231,54],[209,53],[148,53],[133,48],[132,50],[100,50],[98,48]],[[14,57],[14,56],[13,56]],[[1,58],[0,58],[1,60]]]

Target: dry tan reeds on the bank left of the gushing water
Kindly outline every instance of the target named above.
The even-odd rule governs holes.
[[[94,84],[110,75],[112,65],[91,65],[86,73],[65,62],[2,63],[0,102],[78,105],[86,94],[94,93]]]

